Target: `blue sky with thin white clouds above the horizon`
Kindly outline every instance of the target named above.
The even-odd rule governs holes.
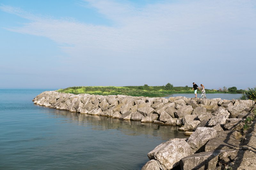
[[[255,0],[0,0],[0,89],[256,86]]]

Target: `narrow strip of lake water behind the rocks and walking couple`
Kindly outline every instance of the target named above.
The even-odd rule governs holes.
[[[169,96],[166,96],[165,98],[169,97],[176,97],[176,96],[184,96],[187,98],[195,97],[194,93],[180,93],[180,94],[171,94]],[[201,92],[197,92],[197,97],[201,98]],[[232,100],[232,99],[239,99],[242,97],[242,94],[230,94],[230,93],[206,93],[207,99],[214,99],[214,98],[221,98],[226,100]]]

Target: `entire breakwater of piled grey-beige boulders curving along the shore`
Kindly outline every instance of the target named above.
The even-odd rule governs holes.
[[[40,106],[80,114],[177,125],[191,135],[170,139],[148,153],[142,169],[252,169],[256,167],[255,122],[243,136],[245,118],[254,118],[252,100],[148,98],[125,95],[42,92],[33,99]]]

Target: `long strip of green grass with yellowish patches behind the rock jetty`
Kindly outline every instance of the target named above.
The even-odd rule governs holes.
[[[217,90],[205,89],[206,93],[221,93]],[[194,93],[192,87],[173,87],[173,90],[166,90],[165,86],[78,86],[59,89],[58,92],[73,94],[95,94],[95,95],[117,95],[144,97],[164,97],[174,93]],[[199,91],[200,92],[200,91]]]

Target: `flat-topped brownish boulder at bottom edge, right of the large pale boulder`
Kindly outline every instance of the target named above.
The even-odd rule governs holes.
[[[215,169],[220,152],[201,152],[182,158],[180,167],[182,170]]]

